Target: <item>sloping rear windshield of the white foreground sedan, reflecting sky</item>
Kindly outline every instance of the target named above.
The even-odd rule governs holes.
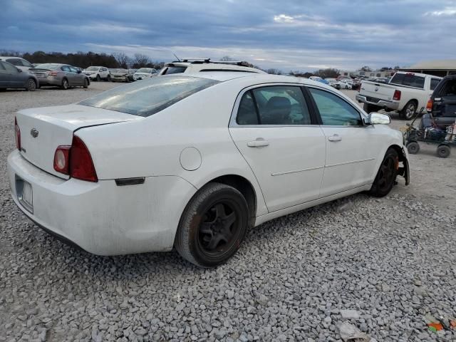
[[[217,83],[188,76],[154,77],[113,88],[78,104],[146,117]]]

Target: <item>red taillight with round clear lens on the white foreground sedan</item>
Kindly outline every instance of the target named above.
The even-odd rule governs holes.
[[[92,157],[81,138],[73,135],[71,146],[58,146],[54,153],[54,170],[78,180],[98,182]]]

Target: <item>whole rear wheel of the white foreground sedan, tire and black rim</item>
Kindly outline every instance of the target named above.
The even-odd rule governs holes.
[[[249,208],[244,196],[234,187],[209,183],[185,207],[175,247],[192,264],[214,267],[239,249],[248,226]]]

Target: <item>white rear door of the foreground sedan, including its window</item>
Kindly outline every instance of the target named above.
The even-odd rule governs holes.
[[[300,86],[244,90],[229,133],[259,181],[269,212],[317,199],[326,142]]]

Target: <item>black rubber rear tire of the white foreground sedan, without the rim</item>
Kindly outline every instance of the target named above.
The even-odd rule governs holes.
[[[205,212],[219,201],[227,201],[239,213],[240,222],[237,241],[219,257],[209,257],[199,243],[199,225]],[[190,200],[182,214],[177,229],[175,247],[188,261],[203,267],[214,267],[227,261],[237,252],[249,225],[249,208],[242,194],[227,185],[209,183]],[[187,255],[190,254],[190,255]]]

